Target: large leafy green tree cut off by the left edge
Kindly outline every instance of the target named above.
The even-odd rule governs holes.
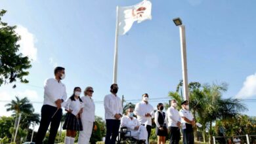
[[[15,82],[17,79],[28,83],[24,77],[29,75],[26,70],[32,65],[28,56],[19,53],[20,45],[17,45],[17,42],[21,37],[15,32],[16,26],[8,26],[2,22],[1,18],[5,12],[7,11],[0,11],[0,86]]]

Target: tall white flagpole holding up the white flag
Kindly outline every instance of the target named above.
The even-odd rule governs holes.
[[[114,72],[113,72],[113,83],[117,83],[117,60],[118,60],[118,25],[119,25],[119,18],[118,18],[118,6],[116,7],[116,41],[115,41],[115,52],[114,52]]]

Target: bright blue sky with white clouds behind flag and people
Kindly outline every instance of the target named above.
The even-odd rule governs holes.
[[[43,82],[53,77],[56,65],[66,67],[68,94],[75,86],[93,86],[95,101],[102,101],[112,84],[116,6],[139,0],[7,1],[4,22],[18,25],[21,50],[33,58],[29,84],[0,87],[0,116],[6,101],[28,96],[37,113],[43,101]],[[228,83],[224,98],[256,99],[256,1],[152,0],[152,20],[133,24],[119,37],[117,83],[119,96],[140,99],[148,93],[152,105],[167,102],[169,91],[182,79],[179,28],[186,26],[188,81]],[[133,101],[134,102],[134,101]],[[255,102],[245,103],[244,114],[256,116]],[[96,115],[104,117],[102,102]]]

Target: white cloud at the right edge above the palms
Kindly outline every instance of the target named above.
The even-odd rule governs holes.
[[[256,73],[246,77],[244,86],[236,95],[236,98],[250,98],[256,96]]]

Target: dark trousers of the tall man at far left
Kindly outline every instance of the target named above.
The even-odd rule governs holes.
[[[45,134],[48,130],[50,123],[51,123],[51,128],[50,128],[48,143],[54,144],[54,140],[58,132],[58,126],[60,125],[60,120],[62,117],[62,109],[58,109],[57,113],[54,115],[56,111],[57,111],[57,107],[53,107],[51,105],[43,105],[41,109],[40,126],[37,131],[37,138],[35,142],[36,144],[43,143],[43,139],[45,138]]]

